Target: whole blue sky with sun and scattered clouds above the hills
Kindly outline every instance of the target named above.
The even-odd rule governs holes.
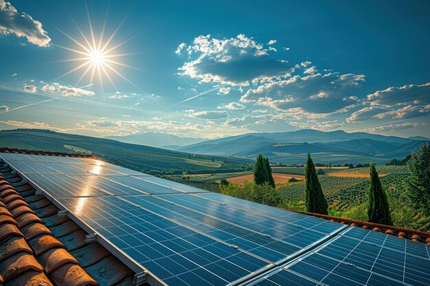
[[[0,128],[430,136],[428,1],[201,2],[0,0]]]

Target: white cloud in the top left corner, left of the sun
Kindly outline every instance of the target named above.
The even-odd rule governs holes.
[[[4,0],[0,0],[0,34],[25,37],[39,47],[47,47],[51,41],[41,22],[24,12],[19,14],[14,6]]]

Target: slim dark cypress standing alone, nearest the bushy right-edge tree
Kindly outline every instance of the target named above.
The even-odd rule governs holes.
[[[370,185],[367,191],[367,215],[369,222],[392,225],[387,194],[382,188],[375,165],[370,164]]]

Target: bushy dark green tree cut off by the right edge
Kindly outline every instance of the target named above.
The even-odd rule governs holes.
[[[430,146],[422,144],[412,152],[407,167],[411,172],[407,180],[407,195],[418,211],[430,215]]]

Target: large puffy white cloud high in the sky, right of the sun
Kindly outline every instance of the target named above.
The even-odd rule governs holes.
[[[247,86],[288,76],[294,70],[285,60],[272,58],[263,44],[242,34],[225,39],[199,36],[186,50],[196,58],[185,62],[179,74],[200,82]]]

